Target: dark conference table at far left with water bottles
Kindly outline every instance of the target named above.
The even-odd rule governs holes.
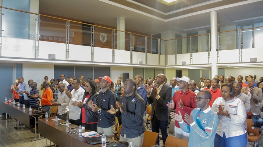
[[[14,119],[17,119],[16,128],[21,128],[21,126],[19,125],[20,124],[19,122],[23,123],[28,128],[30,128],[30,118],[32,117],[35,119],[35,128],[36,128],[36,116],[45,115],[44,112],[35,114],[34,111],[36,109],[33,109],[33,108],[32,108],[32,113],[29,114],[29,107],[26,107],[25,111],[23,111],[22,105],[20,105],[20,108],[17,108],[17,106],[14,107],[13,105],[5,103],[3,101],[1,102],[1,109],[2,111],[4,111],[4,113],[7,113],[8,115],[12,116]],[[37,136],[37,133],[35,129],[35,139],[31,141],[44,139],[43,137],[40,137],[40,134],[39,134],[39,138],[37,138],[36,136]]]

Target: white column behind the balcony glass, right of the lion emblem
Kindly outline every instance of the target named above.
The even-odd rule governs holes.
[[[125,18],[124,17],[118,17],[117,18],[117,49],[124,50],[124,45],[125,45]],[[129,34],[130,36],[130,34]]]

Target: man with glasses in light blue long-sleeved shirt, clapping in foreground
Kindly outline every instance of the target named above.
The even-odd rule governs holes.
[[[181,114],[180,110],[179,115],[174,112],[170,113],[170,116],[179,122],[180,128],[189,133],[189,147],[214,146],[218,115],[209,106],[211,97],[210,91],[201,90],[195,97],[197,108],[190,115]],[[184,120],[182,115],[184,115]]]

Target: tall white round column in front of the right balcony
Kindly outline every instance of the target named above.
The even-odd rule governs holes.
[[[217,66],[217,12],[210,12],[210,24],[211,24],[211,52],[210,52],[210,62],[211,67],[211,78],[215,75],[218,75],[218,66]]]

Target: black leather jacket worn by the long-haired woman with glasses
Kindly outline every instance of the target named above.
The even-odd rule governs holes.
[[[86,96],[89,93],[85,92],[83,95],[83,99],[82,101],[86,98]],[[86,120],[85,122],[98,122],[98,112],[93,112],[92,109],[88,106],[88,102],[89,101],[93,101],[94,104],[98,105],[98,92],[92,94],[89,96],[86,104],[83,104],[82,107],[85,108],[85,112],[86,112]],[[82,122],[82,111],[80,111],[80,121]]]

